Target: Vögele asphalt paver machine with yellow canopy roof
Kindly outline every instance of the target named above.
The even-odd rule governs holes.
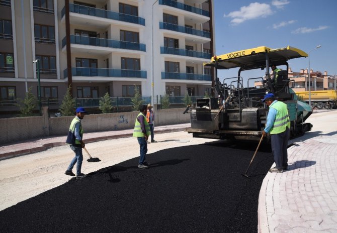
[[[288,78],[287,62],[307,56],[302,50],[290,46],[277,49],[261,46],[212,57],[204,65],[215,68],[212,87],[218,97],[197,99],[195,105],[185,110],[191,113],[191,128],[186,131],[196,138],[259,141],[267,122],[268,108],[261,101],[266,93],[274,93],[276,99],[287,104],[292,138],[310,131],[312,125],[305,121],[312,109],[298,100],[289,88],[293,80]],[[286,66],[278,71],[277,82],[272,80],[271,64]],[[237,77],[223,78],[221,82],[218,70],[232,68],[239,68]],[[254,69],[265,70],[265,77],[248,78],[246,87],[243,87],[241,72]],[[261,81],[261,85],[249,87],[249,82],[253,81]]]

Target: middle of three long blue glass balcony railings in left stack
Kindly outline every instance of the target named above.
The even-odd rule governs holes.
[[[80,44],[80,45],[92,45],[100,47],[109,47],[117,49],[130,49],[130,50],[139,50],[146,51],[146,45],[128,41],[115,41],[111,39],[97,38],[97,37],[87,37],[87,36],[77,36],[70,35],[71,44]],[[62,40],[62,47],[66,45],[65,37]]]

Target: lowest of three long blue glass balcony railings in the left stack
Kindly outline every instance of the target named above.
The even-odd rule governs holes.
[[[68,77],[67,69],[63,71],[64,77]],[[87,68],[71,67],[72,76],[89,77],[127,77],[127,78],[146,78],[144,70],[124,70],[124,69],[105,69],[105,68]]]

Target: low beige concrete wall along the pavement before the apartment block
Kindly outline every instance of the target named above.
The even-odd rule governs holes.
[[[170,108],[154,111],[156,126],[185,124],[190,114],[185,108]],[[66,135],[73,116],[48,118],[48,108],[43,107],[41,117],[0,119],[0,145],[31,138]],[[133,129],[139,111],[86,115],[82,121],[85,132],[100,132]]]

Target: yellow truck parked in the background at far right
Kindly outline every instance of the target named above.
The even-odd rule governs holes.
[[[295,91],[296,95],[302,101],[309,104],[309,91]],[[317,109],[337,108],[337,91],[336,90],[314,90],[310,91],[311,107]],[[330,104],[330,105],[329,105]]]

